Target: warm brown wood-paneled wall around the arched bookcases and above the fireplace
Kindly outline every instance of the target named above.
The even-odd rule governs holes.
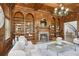
[[[50,12],[48,12],[48,11],[44,11],[44,10],[33,10],[33,9],[31,9],[31,8],[23,8],[23,7],[21,7],[21,6],[15,6],[15,9],[14,9],[14,11],[13,11],[13,16],[12,16],[12,22],[14,21],[14,15],[15,15],[15,13],[16,12],[21,12],[23,15],[24,15],[24,20],[27,20],[26,18],[27,18],[27,14],[28,13],[30,13],[30,14],[32,14],[33,15],[33,17],[34,17],[34,35],[35,35],[35,41],[38,41],[38,37],[37,37],[37,33],[39,32],[39,31],[47,31],[46,29],[44,30],[42,30],[42,29],[40,29],[39,27],[40,27],[40,21],[43,19],[43,18],[45,18],[46,19],[46,22],[47,22],[47,29],[49,29],[49,26],[50,25],[52,25],[53,23],[55,23],[54,22],[54,20],[56,20],[56,19],[58,19],[58,18],[56,18],[56,19],[53,19],[53,15],[52,15],[52,13],[50,13]],[[18,20],[18,22],[19,22],[20,20]],[[60,23],[59,24],[59,26],[61,27],[61,29],[60,29],[60,31],[62,31],[62,33],[60,34],[60,35],[62,35],[63,36],[63,19],[60,19],[58,22],[56,22],[56,23]],[[14,27],[14,25],[12,24],[12,29],[14,29],[15,27]],[[39,31],[38,31],[38,29],[37,28],[39,28]],[[49,30],[48,30],[49,31]],[[13,30],[12,31],[12,33],[15,33],[15,31]]]

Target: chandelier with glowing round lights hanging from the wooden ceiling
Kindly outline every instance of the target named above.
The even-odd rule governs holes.
[[[65,8],[63,4],[60,4],[59,7],[54,8],[54,15],[56,16],[67,16],[70,12],[69,8]]]

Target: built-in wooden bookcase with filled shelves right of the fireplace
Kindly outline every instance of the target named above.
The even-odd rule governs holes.
[[[60,35],[60,19],[57,17],[52,17],[50,25],[50,40],[56,40],[56,37]]]

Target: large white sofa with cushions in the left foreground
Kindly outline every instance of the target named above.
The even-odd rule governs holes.
[[[35,45],[31,41],[27,41],[24,36],[20,36],[19,40],[14,44],[8,53],[8,56],[34,56],[41,55]]]

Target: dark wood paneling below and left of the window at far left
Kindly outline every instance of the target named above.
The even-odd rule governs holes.
[[[5,27],[0,29],[0,55],[4,56],[12,47],[12,38],[5,40]]]

